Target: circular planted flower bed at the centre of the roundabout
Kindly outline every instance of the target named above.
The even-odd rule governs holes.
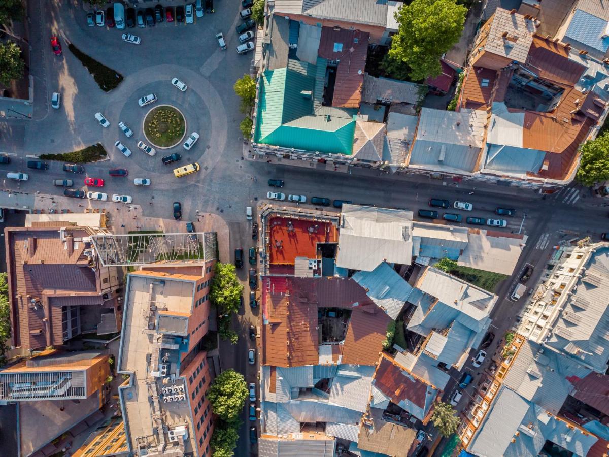
[[[160,105],[152,108],[144,119],[144,135],[157,147],[180,143],[186,132],[186,119],[176,108]]]

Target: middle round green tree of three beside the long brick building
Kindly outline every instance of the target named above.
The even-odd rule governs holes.
[[[238,419],[248,394],[245,378],[231,368],[216,377],[206,395],[214,413],[231,422]]]

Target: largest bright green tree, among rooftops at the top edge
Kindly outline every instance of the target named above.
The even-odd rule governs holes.
[[[412,80],[438,76],[440,56],[459,41],[467,9],[455,0],[414,0],[395,13],[398,33],[389,56],[410,68]]]

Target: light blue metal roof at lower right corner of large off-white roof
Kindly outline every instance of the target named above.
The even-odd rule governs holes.
[[[385,262],[373,271],[357,272],[353,280],[366,289],[368,297],[394,321],[412,291],[412,286]]]

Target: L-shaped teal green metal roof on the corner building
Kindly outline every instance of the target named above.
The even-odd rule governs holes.
[[[323,107],[314,112],[313,100],[319,84],[316,85],[316,78],[311,75],[319,72],[310,64],[306,71],[303,70],[305,68],[297,71],[288,65],[264,72],[255,142],[323,154],[351,155],[355,134],[353,113],[334,108],[323,110]],[[302,91],[311,91],[312,96],[303,96]]]

